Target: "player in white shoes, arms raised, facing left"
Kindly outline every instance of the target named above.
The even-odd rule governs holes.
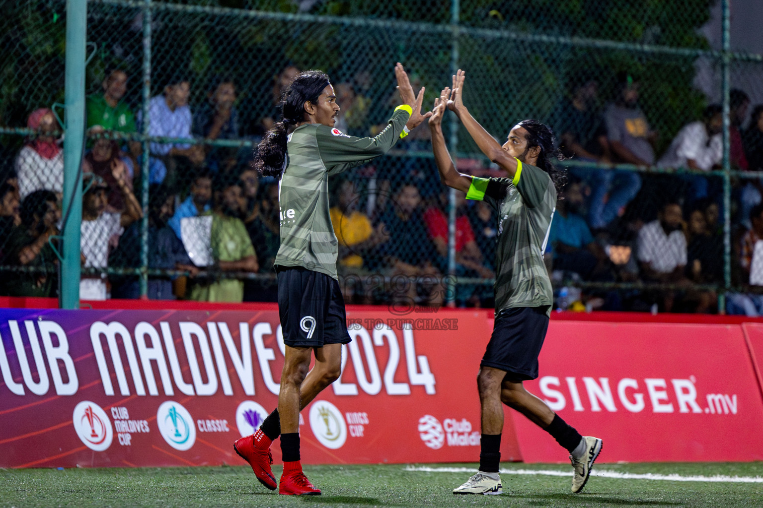
[[[432,148],[440,181],[466,193],[468,200],[485,200],[497,211],[495,252],[495,324],[477,379],[481,404],[481,452],[477,474],[453,494],[501,494],[501,403],[520,411],[550,433],[570,452],[575,473],[572,492],[580,492],[601,450],[601,439],[583,437],[535,395],[523,381],[538,377],[538,355],[549,327],[553,293],[543,263],[549,240],[556,193],[565,174],[557,170],[554,138],[548,126],[523,120],[511,129],[503,146],[486,131],[463,104],[465,73],[453,76],[430,119]],[[471,177],[456,171],[441,128],[445,110],[456,113],[472,139],[508,177]]]

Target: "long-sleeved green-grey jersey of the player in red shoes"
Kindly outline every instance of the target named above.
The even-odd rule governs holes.
[[[275,265],[304,267],[338,279],[339,242],[331,225],[328,177],[391,149],[410,118],[407,109],[398,107],[374,138],[347,136],[320,123],[298,126],[288,136],[287,161],[278,182],[281,247]]]

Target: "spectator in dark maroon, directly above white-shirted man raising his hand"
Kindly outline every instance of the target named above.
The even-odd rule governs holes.
[[[106,211],[121,213],[124,211],[124,195],[119,188],[114,173],[125,174],[124,183],[133,190],[134,167],[129,158],[122,157],[119,144],[110,139],[96,139],[93,148],[82,161],[83,173],[97,174],[108,186]]]

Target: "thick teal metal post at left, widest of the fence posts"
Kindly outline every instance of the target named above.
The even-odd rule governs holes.
[[[79,308],[80,247],[82,224],[82,141],[85,136],[85,41],[87,0],[66,2],[66,112],[63,141],[63,260],[59,307]]]

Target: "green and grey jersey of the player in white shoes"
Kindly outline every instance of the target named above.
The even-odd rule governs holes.
[[[546,171],[517,160],[513,178],[472,177],[467,199],[485,200],[498,215],[495,312],[549,306],[553,292],[543,252],[556,209],[556,189]]]

